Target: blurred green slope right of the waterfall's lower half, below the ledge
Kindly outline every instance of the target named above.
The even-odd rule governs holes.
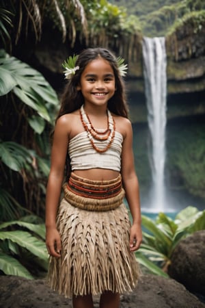
[[[205,199],[205,125],[202,121],[181,120],[168,127],[167,166],[171,189],[185,189]]]

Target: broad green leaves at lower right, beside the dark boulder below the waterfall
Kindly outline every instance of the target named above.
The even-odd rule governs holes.
[[[136,253],[140,264],[153,274],[167,277],[176,245],[191,233],[205,229],[205,210],[187,207],[175,219],[159,213],[156,220],[142,215],[143,243]]]

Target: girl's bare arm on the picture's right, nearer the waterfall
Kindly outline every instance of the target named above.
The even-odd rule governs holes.
[[[124,119],[126,133],[122,144],[122,182],[126,194],[126,201],[131,210],[133,224],[130,233],[130,249],[137,251],[142,241],[141,233],[141,209],[139,198],[139,183],[135,172],[135,162],[133,155],[133,129],[131,122]]]

